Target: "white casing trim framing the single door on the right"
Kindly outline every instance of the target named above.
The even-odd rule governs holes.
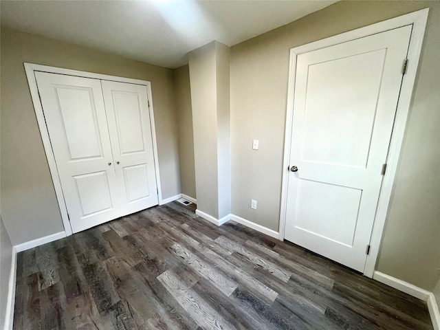
[[[286,210],[287,210],[287,186],[289,182],[289,161],[290,149],[292,145],[292,124],[294,117],[294,87],[296,77],[296,58],[300,54],[312,52],[339,43],[345,43],[355,39],[360,39],[365,36],[401,28],[405,25],[412,25],[412,32],[410,37],[410,44],[408,47],[408,67],[406,74],[401,83],[401,91],[397,103],[395,114],[395,122],[393,132],[391,135],[391,142],[388,146],[388,156],[386,158],[386,173],[382,179],[382,186],[380,189],[379,200],[375,212],[375,219],[373,230],[370,239],[370,253],[366,256],[366,263],[364,267],[364,275],[370,278],[373,277],[377,256],[379,254],[380,245],[382,242],[382,233],[386,222],[386,214],[391,199],[391,192],[393,190],[393,183],[399,161],[399,154],[401,151],[401,144],[404,138],[404,131],[408,112],[412,100],[412,91],[415,84],[415,77],[417,74],[417,67],[419,64],[421,45],[423,43],[423,36],[425,34],[426,22],[428,20],[429,8],[417,10],[394,19],[388,19],[380,23],[368,25],[364,28],[358,28],[349,32],[344,32],[336,36],[307,43],[299,47],[294,47],[290,50],[289,63],[289,83],[287,91],[287,111],[286,111],[286,126],[284,139],[284,155],[283,155],[283,179],[281,188],[281,211],[280,211],[280,225],[279,225],[279,239],[284,240]],[[403,58],[402,58],[403,60]]]

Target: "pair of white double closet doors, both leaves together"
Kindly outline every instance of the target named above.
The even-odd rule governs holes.
[[[157,205],[146,86],[35,76],[72,231]]]

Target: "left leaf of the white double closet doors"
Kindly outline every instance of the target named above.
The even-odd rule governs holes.
[[[120,217],[100,80],[35,76],[72,231]]]

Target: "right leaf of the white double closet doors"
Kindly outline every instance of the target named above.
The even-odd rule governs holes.
[[[121,208],[130,214],[157,205],[146,86],[102,80]]]

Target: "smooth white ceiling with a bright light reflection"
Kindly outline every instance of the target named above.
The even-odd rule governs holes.
[[[1,24],[138,61],[179,67],[191,50],[232,46],[336,0],[1,1]]]

